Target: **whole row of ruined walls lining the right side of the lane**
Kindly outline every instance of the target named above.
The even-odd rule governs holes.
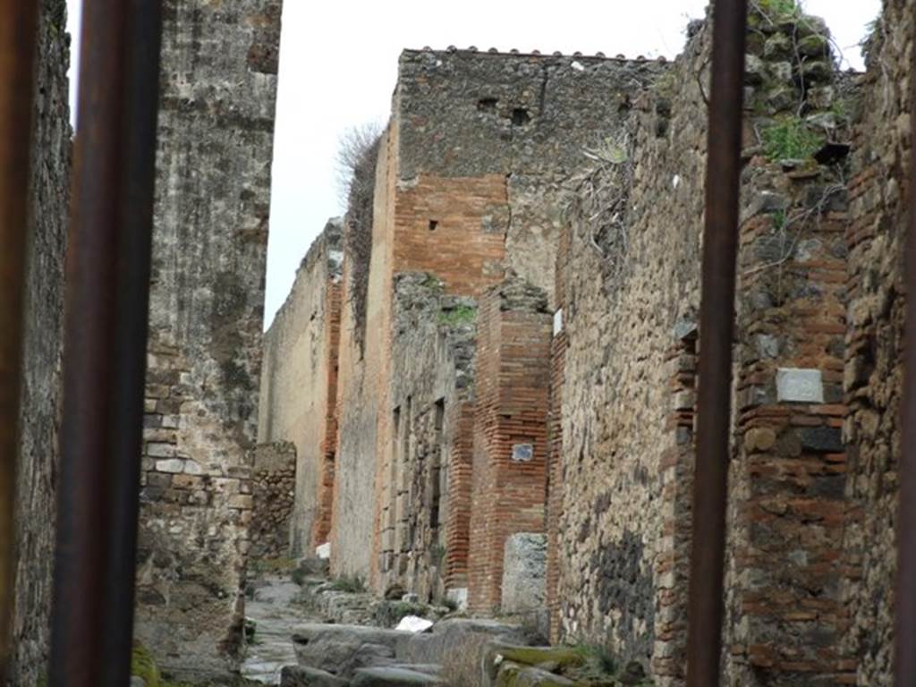
[[[866,74],[835,69],[816,17],[750,16],[729,683],[891,683],[912,3],[885,5]],[[546,609],[552,640],[662,685],[684,678],[702,354],[711,24],[688,34],[671,64],[404,53],[371,253],[345,224],[339,348],[312,363],[336,369],[330,463],[331,423],[304,437],[331,479],[296,506],[330,517],[296,540],[330,542],[335,574]],[[291,351],[268,349],[274,379]],[[313,391],[290,388],[262,418]]]

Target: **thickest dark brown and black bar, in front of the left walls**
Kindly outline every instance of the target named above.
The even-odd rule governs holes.
[[[123,687],[155,177],[159,0],[84,0],[50,683]]]

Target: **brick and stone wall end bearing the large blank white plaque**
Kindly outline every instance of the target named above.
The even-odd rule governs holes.
[[[843,683],[845,184],[755,158],[744,190],[730,669],[748,685]]]

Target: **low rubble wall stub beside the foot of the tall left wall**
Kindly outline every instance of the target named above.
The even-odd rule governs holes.
[[[255,447],[251,471],[253,512],[248,538],[251,560],[289,558],[289,531],[296,493],[296,445],[262,443]]]

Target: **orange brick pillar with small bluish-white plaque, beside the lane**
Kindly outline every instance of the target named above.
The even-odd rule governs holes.
[[[543,290],[508,278],[480,310],[468,604],[500,607],[507,537],[545,530],[551,314]]]

